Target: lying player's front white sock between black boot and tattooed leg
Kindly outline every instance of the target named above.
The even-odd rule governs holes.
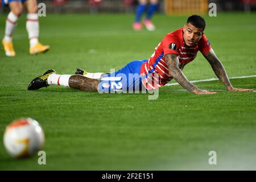
[[[47,78],[47,83],[48,85],[61,85],[61,86],[69,87],[68,80],[69,80],[69,77],[71,76],[72,75],[57,75],[55,73],[52,73]]]

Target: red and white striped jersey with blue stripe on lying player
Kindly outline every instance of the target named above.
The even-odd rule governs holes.
[[[183,40],[183,28],[167,34],[156,46],[155,52],[146,63],[142,64],[141,75],[143,85],[148,89],[156,89],[172,80],[164,56],[169,53],[179,55],[179,62],[185,65],[195,59],[197,52],[210,51],[210,43],[205,35],[193,47],[186,46]]]

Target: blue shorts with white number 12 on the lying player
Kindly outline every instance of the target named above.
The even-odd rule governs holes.
[[[128,63],[125,67],[119,69],[117,72],[110,73],[101,78],[98,85],[98,91],[102,93],[109,93],[115,91],[134,91],[142,90],[141,66],[146,60],[136,60]]]

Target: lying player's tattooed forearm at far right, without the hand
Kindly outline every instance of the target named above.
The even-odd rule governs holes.
[[[216,54],[213,49],[211,49],[208,53],[204,55],[205,59],[208,60],[215,75],[223,82],[223,84],[229,88],[231,86],[228,75],[226,74],[225,68],[222,65],[221,61],[218,60]]]

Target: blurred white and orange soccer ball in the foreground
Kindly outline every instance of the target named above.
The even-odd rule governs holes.
[[[6,127],[3,143],[14,158],[34,155],[44,145],[44,131],[37,121],[20,118]]]

